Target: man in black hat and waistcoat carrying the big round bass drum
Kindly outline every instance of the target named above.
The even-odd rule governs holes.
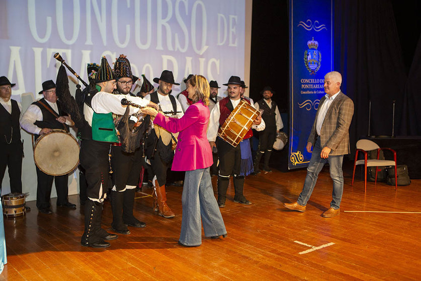
[[[35,140],[42,134],[51,133],[53,129],[69,131],[73,125],[70,116],[61,110],[60,102],[55,94],[55,83],[52,80],[42,83],[44,98],[32,103],[21,118],[21,127],[34,134]],[[37,207],[40,213],[51,214],[50,196],[53,180],[57,191],[57,206],[75,209],[76,205],[67,199],[68,174],[52,176],[44,173],[38,167],[37,170]]]

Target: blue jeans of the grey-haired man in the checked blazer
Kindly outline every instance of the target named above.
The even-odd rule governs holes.
[[[344,176],[342,173],[343,155],[330,156],[327,159],[320,157],[322,148],[320,147],[320,137],[317,137],[316,144],[314,145],[311,155],[310,163],[307,167],[307,175],[304,181],[303,190],[298,197],[297,203],[305,206],[308,199],[310,199],[314,186],[317,182],[317,176],[320,173],[326,162],[329,163],[330,177],[333,181],[332,201],[330,207],[339,209],[344,191]]]

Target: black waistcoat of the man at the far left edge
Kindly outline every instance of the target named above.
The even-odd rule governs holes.
[[[11,100],[12,114],[0,105],[0,144],[17,143],[21,141],[21,126],[19,116],[21,111],[17,101]],[[13,133],[12,133],[13,132]]]

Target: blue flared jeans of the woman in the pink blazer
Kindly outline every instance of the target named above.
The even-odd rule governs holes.
[[[226,234],[224,221],[213,194],[209,168],[186,171],[182,195],[183,217],[180,242],[202,244],[202,223],[206,237]]]

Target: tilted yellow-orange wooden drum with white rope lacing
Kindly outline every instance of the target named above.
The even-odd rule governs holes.
[[[218,135],[235,148],[258,116],[259,110],[241,100],[219,128]]]

